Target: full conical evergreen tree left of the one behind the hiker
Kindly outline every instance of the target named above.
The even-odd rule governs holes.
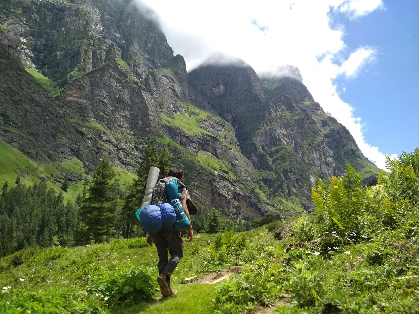
[[[114,193],[119,187],[112,181],[115,172],[107,159],[101,160],[93,173],[93,184],[89,196],[83,200],[81,214],[87,226],[87,233],[93,236],[94,242],[103,242],[111,235],[116,219],[118,195]]]

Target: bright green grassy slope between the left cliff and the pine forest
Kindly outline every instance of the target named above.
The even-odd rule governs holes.
[[[77,158],[65,162],[53,162],[52,164],[37,163],[19,152],[18,149],[0,140],[0,187],[7,181],[9,187],[14,185],[16,177],[21,176],[21,182],[25,184],[39,183],[42,178],[47,179],[49,188],[60,191],[63,180],[60,172],[72,172],[85,177],[87,174],[83,163]],[[136,175],[124,169],[114,167],[116,176],[119,175],[119,184],[124,187],[132,182]],[[119,172],[119,173],[118,173]],[[91,177],[91,173],[88,175]],[[70,182],[68,192],[64,193],[66,200],[74,201],[78,193],[83,192],[83,180]]]

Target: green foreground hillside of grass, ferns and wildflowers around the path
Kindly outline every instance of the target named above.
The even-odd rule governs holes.
[[[184,243],[172,277],[178,294],[169,299],[153,299],[156,251],[134,238],[3,257],[0,310],[244,314],[277,304],[271,312],[419,313],[419,149],[387,163],[370,188],[350,165],[344,177],[318,180],[316,212],[298,217],[280,241],[273,231],[289,221],[198,234]],[[241,274],[222,283],[183,284],[234,265]]]

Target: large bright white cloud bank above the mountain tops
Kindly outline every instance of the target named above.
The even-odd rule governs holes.
[[[340,99],[333,83],[338,75],[354,79],[377,51],[368,46],[348,51],[344,26],[332,21],[336,14],[331,14],[360,17],[381,8],[381,0],[143,2],[160,16],[168,43],[185,57],[188,70],[216,52],[241,58],[256,72],[286,64],[298,67],[314,99],[349,129],[366,157],[385,167],[384,155],[365,142],[361,119]]]

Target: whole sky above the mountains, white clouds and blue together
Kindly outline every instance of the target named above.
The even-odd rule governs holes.
[[[220,53],[257,73],[296,66],[378,167],[419,146],[419,0],[137,1],[156,11],[188,70]]]

